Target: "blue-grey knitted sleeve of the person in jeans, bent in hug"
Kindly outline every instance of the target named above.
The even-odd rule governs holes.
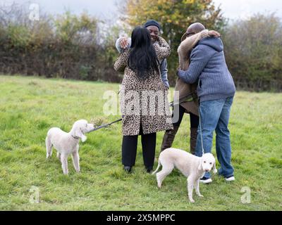
[[[188,70],[178,70],[178,77],[188,84],[194,84],[212,57],[211,51],[202,45],[191,53],[191,63]]]

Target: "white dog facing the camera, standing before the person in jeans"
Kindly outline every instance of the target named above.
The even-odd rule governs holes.
[[[157,173],[159,167],[162,165],[162,169]],[[204,176],[205,172],[210,172],[214,168],[216,174],[216,160],[214,155],[206,153],[202,157],[197,157],[184,150],[176,148],[167,148],[159,155],[159,165],[157,169],[152,173],[157,173],[158,187],[161,188],[161,183],[164,178],[170,174],[174,167],[180,170],[184,176],[188,177],[188,196],[191,203],[195,203],[193,200],[193,190],[200,197],[204,197],[200,193],[200,179]]]

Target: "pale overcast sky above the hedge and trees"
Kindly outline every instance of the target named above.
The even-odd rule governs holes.
[[[154,0],[152,0],[154,1]],[[47,13],[62,13],[66,9],[73,13],[80,14],[86,10],[91,15],[97,15],[99,18],[115,18],[118,2],[123,0],[0,0],[0,5],[16,3],[37,3],[42,11]],[[254,13],[276,12],[276,15],[282,18],[281,0],[214,0],[216,6],[221,4],[223,15],[226,18],[237,19],[247,18]]]

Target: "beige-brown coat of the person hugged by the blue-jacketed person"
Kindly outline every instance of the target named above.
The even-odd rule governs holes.
[[[197,44],[200,39],[208,36],[208,30],[203,30],[200,33],[197,33],[191,37],[187,37],[184,41],[181,42],[178,47],[178,58],[179,65],[181,70],[188,70],[190,58],[188,56],[188,52]],[[187,84],[183,82],[181,79],[177,79],[176,81],[176,91],[179,91],[178,94],[174,95],[173,101],[174,103],[178,103],[180,101],[180,105],[185,108],[187,113],[192,113],[194,115],[199,115],[198,113],[198,101],[197,98],[187,98],[183,101],[183,97],[187,96],[190,93],[195,93],[197,90],[197,84]]]

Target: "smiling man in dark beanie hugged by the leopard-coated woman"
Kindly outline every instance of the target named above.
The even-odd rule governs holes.
[[[161,25],[156,20],[147,20],[147,22],[143,25],[144,27],[149,30],[151,40],[154,43],[157,41],[159,34],[161,32]],[[131,46],[131,39],[128,37],[120,37],[116,40],[116,49],[119,53],[125,51],[125,49],[129,49]],[[168,69],[167,69],[167,61],[166,58],[164,60],[161,60],[160,65],[160,72],[161,72],[161,79],[164,83],[164,86],[166,86],[167,89],[169,89],[169,83],[168,83]]]

